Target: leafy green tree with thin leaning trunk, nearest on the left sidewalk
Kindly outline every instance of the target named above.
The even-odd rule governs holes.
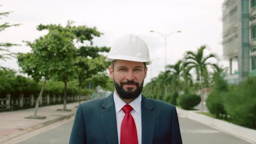
[[[53,70],[58,69],[54,64],[56,57],[54,53],[52,53],[54,49],[53,41],[53,35],[47,34],[46,36],[41,36],[39,39],[36,39],[33,43],[26,42],[26,44],[31,47],[31,52],[26,54],[20,53],[17,56],[18,64],[22,68],[23,73],[27,73],[27,75],[31,76],[36,81],[44,79],[39,96],[36,100],[35,118],[38,118],[37,110],[46,81],[53,75]],[[55,42],[55,45],[59,44]]]

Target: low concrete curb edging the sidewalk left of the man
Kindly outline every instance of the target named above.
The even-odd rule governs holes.
[[[72,113],[72,114],[69,114],[69,115],[62,116],[62,117],[60,117],[60,118],[55,118],[55,119],[52,119],[52,120],[49,120],[49,121],[45,121],[45,122],[43,122],[43,123],[41,123],[41,124],[33,125],[33,126],[29,127],[29,128],[20,128],[20,129],[18,129],[18,130],[23,131],[23,133],[16,134],[16,135],[12,135],[12,136],[10,136],[10,137],[4,139],[3,141],[0,141],[0,143],[1,143],[1,144],[2,144],[2,143],[7,143],[8,141],[12,140],[13,138],[20,137],[20,136],[22,136],[22,135],[24,135],[24,134],[27,134],[27,133],[32,132],[32,131],[34,131],[34,130],[37,130],[37,129],[39,129],[39,128],[43,128],[43,127],[45,127],[45,126],[54,124],[54,123],[56,123],[56,122],[58,122],[58,121],[63,121],[63,120],[65,120],[65,119],[69,119],[69,118],[71,118],[71,117],[73,117],[73,116],[75,116],[75,112]]]

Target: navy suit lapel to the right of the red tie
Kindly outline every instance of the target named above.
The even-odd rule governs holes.
[[[153,111],[154,105],[142,95],[141,99],[141,128],[142,144],[152,144],[156,114]]]

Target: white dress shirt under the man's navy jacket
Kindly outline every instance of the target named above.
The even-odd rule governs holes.
[[[121,134],[121,124],[123,118],[125,117],[125,112],[122,108],[126,105],[125,101],[119,98],[114,92],[114,102],[115,102],[115,114],[116,114],[116,124],[118,133],[118,144],[120,144],[120,134]],[[131,115],[135,121],[137,134],[138,134],[138,144],[141,144],[141,94],[135,100],[131,101],[129,104],[133,109],[131,110]]]

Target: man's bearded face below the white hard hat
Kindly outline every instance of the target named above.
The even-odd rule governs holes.
[[[143,62],[115,60],[114,69],[109,66],[108,70],[120,98],[137,98],[141,94],[148,71]]]

